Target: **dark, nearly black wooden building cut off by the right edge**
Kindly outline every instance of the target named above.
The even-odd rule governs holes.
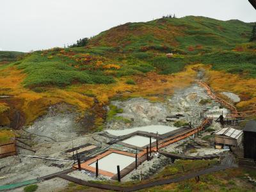
[[[243,129],[244,158],[256,161],[256,121],[250,120]]]

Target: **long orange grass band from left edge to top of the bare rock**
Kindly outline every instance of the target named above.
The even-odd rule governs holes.
[[[108,104],[109,99],[115,95],[159,100],[158,94],[170,95],[175,89],[188,86],[195,79],[196,71],[193,70],[195,67],[196,65],[189,66],[184,72],[168,76],[151,72],[141,77],[122,77],[116,79],[116,83],[113,84],[73,84],[67,88],[48,87],[40,93],[24,88],[22,81],[26,74],[15,67],[10,67],[0,70],[0,95],[12,96],[1,100],[0,109],[12,112],[18,110],[24,113],[26,124],[29,124],[38,116],[44,115],[49,106],[59,102],[72,104],[83,114],[86,109],[92,108],[93,97],[99,100],[100,105]],[[136,81],[135,85],[125,83],[131,78]],[[4,119],[1,124],[7,125],[10,122],[6,120],[7,114],[0,114],[0,119]]]

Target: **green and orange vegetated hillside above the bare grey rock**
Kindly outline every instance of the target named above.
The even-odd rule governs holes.
[[[163,100],[175,88],[188,86],[200,68],[216,90],[223,90],[219,82],[226,81],[225,89],[241,96],[239,108],[252,108],[256,100],[251,87],[256,44],[248,43],[252,26],[192,16],[157,19],[111,28],[86,47],[35,51],[18,61],[18,53],[2,52],[2,61],[14,62],[0,66],[0,95],[11,96],[0,100],[0,125],[12,125],[17,113],[20,125],[30,124],[52,104],[66,102],[77,107],[81,118],[86,111],[95,114],[90,129],[102,129],[103,108],[109,100]],[[168,52],[174,56],[167,58]],[[237,78],[244,79],[243,86],[234,84],[232,79]]]

